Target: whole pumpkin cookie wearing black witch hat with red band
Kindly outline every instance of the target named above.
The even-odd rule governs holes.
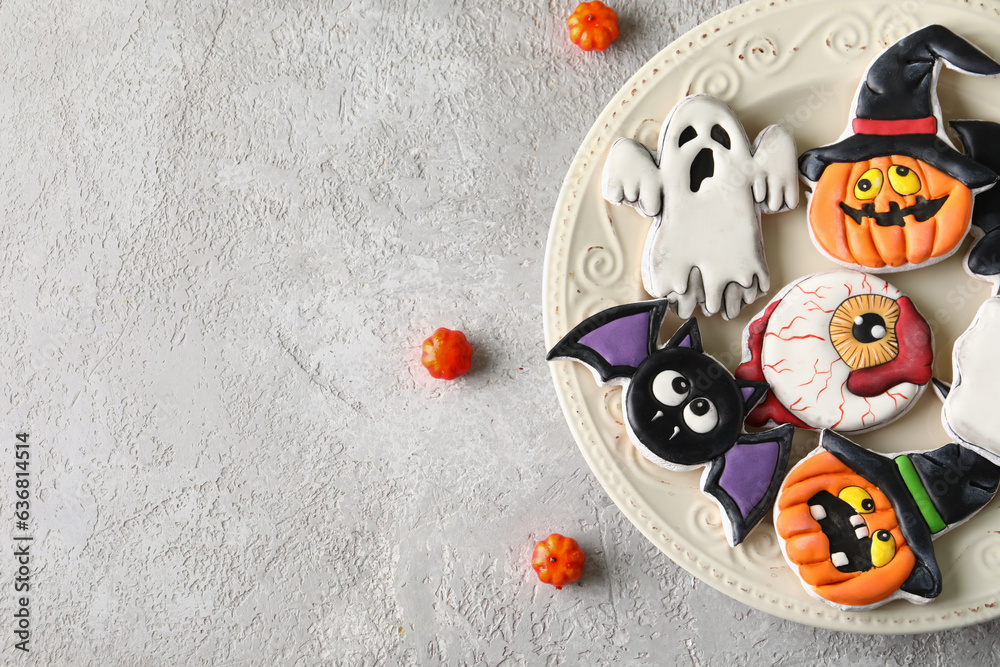
[[[809,231],[833,261],[873,272],[925,266],[954,253],[969,231],[973,197],[997,175],[945,133],[943,64],[1000,75],[1000,64],[947,28],[921,28],[868,66],[840,139],[799,158],[812,186]]]

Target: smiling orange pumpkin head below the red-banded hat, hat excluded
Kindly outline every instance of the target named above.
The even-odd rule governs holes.
[[[949,255],[971,216],[966,185],[903,155],[828,165],[809,206],[812,236],[823,251],[872,269]]]

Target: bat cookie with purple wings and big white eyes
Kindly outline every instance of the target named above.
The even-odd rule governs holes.
[[[666,299],[609,308],[577,325],[547,358],[582,362],[599,384],[622,385],[626,432],[647,459],[668,470],[705,467],[701,490],[721,509],[736,546],[774,500],[794,428],[743,433],[767,384],[737,380],[705,354],[693,318],[658,349],[666,311]]]

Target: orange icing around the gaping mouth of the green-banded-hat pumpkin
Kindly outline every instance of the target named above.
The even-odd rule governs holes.
[[[878,546],[873,539],[871,569],[841,572],[834,566],[829,538],[809,510],[810,499],[822,491],[857,504],[869,534],[886,538]],[[885,600],[899,590],[917,562],[889,499],[830,452],[805,459],[789,473],[778,497],[775,528],[785,541],[786,558],[803,582],[822,599],[838,605],[860,607]]]

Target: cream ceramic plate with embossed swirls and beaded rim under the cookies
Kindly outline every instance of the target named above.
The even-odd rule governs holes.
[[[800,152],[830,143],[846,125],[868,63],[887,44],[930,23],[950,27],[1000,59],[996,4],[755,0],[698,26],[647,63],[591,128],[563,184],[546,251],[547,346],[589,315],[649,298],[639,276],[649,222],[601,197],[604,158],[616,138],[655,146],[671,107],[688,93],[707,92],[730,104],[751,137],[780,122],[794,133]],[[1000,79],[945,69],[938,92],[946,121],[1000,122]],[[739,363],[743,328],[771,296],[800,276],[837,268],[810,242],[804,202],[802,197],[797,210],[764,217],[768,297],[731,322],[699,318],[706,350],[730,370]],[[951,380],[955,339],[990,294],[989,285],[962,270],[968,244],[944,262],[888,277],[931,323],[935,376],[945,381]],[[669,316],[663,338],[679,324]],[[775,616],[855,632],[926,632],[1000,615],[1000,500],[935,541],[944,574],[944,592],[936,601],[926,606],[893,602],[865,613],[837,611],[803,590],[781,556],[770,519],[741,546],[726,545],[717,508],[698,490],[701,473],[660,469],[631,446],[620,389],[598,387],[578,363],[559,361],[551,368],[573,436],[618,507],[670,558],[730,597]],[[940,421],[941,405],[934,392],[926,391],[902,419],[854,439],[882,452],[932,449],[949,442]],[[815,434],[799,432],[792,463],[815,443]]]

